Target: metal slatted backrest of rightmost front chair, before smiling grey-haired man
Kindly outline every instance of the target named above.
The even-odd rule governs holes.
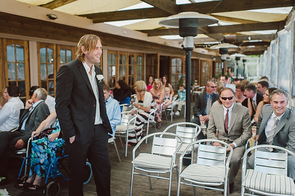
[[[288,169],[288,153],[266,152],[255,149],[254,170],[258,172],[286,175]]]

